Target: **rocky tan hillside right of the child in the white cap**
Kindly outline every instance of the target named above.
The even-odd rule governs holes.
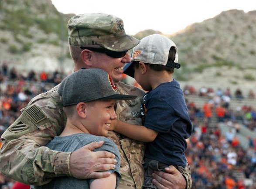
[[[179,49],[182,80],[254,88],[256,10],[229,10],[169,36]]]

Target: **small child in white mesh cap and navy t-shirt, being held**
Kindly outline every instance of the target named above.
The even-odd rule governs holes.
[[[172,77],[174,68],[180,68],[177,61],[176,45],[154,34],[133,48],[132,62],[124,67],[124,73],[148,91],[141,108],[143,126],[115,120],[111,130],[147,142],[144,188],[156,188],[151,182],[154,170],[173,165],[182,172],[187,164],[185,139],[191,136],[192,124],[183,91]]]

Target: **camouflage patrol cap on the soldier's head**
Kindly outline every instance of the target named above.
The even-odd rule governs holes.
[[[68,21],[70,45],[100,45],[112,51],[132,49],[140,43],[135,37],[126,35],[123,20],[104,13],[86,13]]]

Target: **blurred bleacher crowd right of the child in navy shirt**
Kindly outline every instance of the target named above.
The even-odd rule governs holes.
[[[256,188],[256,138],[248,136],[248,148],[241,146],[236,133],[241,125],[256,132],[256,113],[252,106],[243,105],[231,109],[229,88],[222,92],[202,87],[198,93],[192,86],[185,86],[184,96],[206,97],[202,107],[187,100],[194,132],[188,140],[186,156],[191,166],[193,188],[254,189]],[[247,98],[254,99],[252,91]],[[244,99],[242,91],[234,93],[236,99]],[[213,123],[212,117],[216,116]],[[219,123],[225,123],[228,131],[221,132]]]

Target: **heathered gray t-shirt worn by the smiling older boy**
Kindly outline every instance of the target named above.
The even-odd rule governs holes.
[[[121,174],[119,172],[120,169],[120,154],[119,150],[115,143],[112,140],[102,137],[95,136],[88,133],[78,133],[69,136],[55,136],[54,139],[51,140],[50,143],[47,144],[47,147],[53,150],[58,150],[62,152],[73,152],[82,146],[85,146],[92,142],[99,142],[103,140],[104,144],[97,148],[95,151],[108,151],[116,156],[116,168],[109,170],[109,172],[116,173],[116,188],[121,179]],[[53,179],[46,185],[43,186],[35,186],[35,189],[89,189],[90,184],[95,179],[76,179],[74,177],[57,177]]]

